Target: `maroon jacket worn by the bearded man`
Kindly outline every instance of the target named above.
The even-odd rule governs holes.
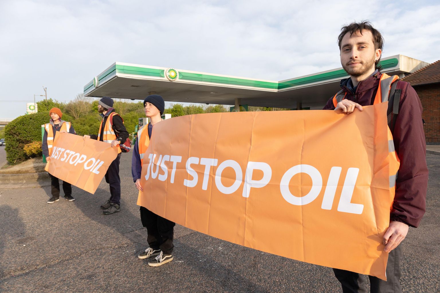
[[[381,73],[377,72],[366,80],[362,80],[354,94],[347,87],[348,79],[342,80],[341,88],[347,92],[345,98],[363,106],[373,105],[380,77]],[[426,189],[428,188],[422,104],[409,83],[399,81],[397,89],[401,89],[402,93],[399,114],[392,136],[399,155],[400,168],[390,220],[418,227],[425,213]],[[333,110],[334,108],[332,96],[324,110]]]

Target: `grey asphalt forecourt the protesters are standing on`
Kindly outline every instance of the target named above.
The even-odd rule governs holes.
[[[149,267],[137,258],[147,233],[136,206],[131,154],[121,156],[122,210],[112,215],[99,208],[110,197],[104,180],[95,195],[73,187],[76,201],[61,197],[54,204],[46,203],[50,186],[0,190],[0,292],[341,292],[331,268],[180,225],[174,260]],[[402,243],[405,293],[440,292],[440,155],[428,154],[427,162],[427,212]]]

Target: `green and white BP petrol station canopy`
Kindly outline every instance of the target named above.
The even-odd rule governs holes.
[[[381,72],[400,78],[429,65],[404,55],[380,63]],[[155,93],[170,102],[322,109],[347,77],[337,68],[273,81],[115,62],[84,86],[84,95],[143,100]]]

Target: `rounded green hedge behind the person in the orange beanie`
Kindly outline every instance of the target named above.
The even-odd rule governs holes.
[[[29,156],[23,148],[33,141],[41,141],[41,125],[48,123],[49,112],[38,112],[15,118],[5,127],[6,159],[11,165],[18,164]],[[73,118],[63,114],[63,120],[72,121]]]

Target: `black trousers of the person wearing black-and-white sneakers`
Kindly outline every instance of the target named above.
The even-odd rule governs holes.
[[[174,244],[174,226],[176,223],[156,215],[143,206],[140,207],[140,220],[147,228],[147,242],[154,250],[162,250],[164,254],[171,254]]]

